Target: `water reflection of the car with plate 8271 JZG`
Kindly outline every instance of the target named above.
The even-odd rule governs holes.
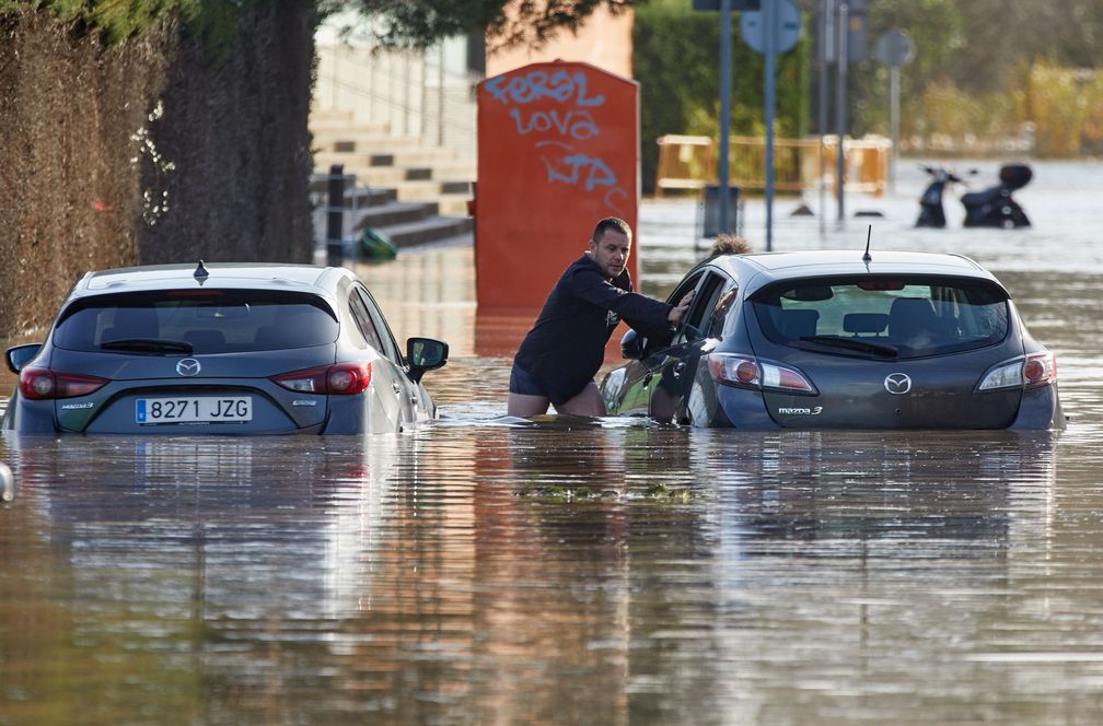
[[[261,586],[274,610],[307,598],[332,615],[370,589],[375,548],[393,549],[371,540],[389,535],[381,522],[400,503],[396,470],[413,466],[420,441],[341,437],[318,449],[306,438],[4,432],[0,452],[18,470],[17,500],[33,502],[62,557],[51,570],[88,588],[82,603],[157,586],[159,600],[202,600],[210,615],[255,605]],[[105,582],[118,587],[97,589]]]

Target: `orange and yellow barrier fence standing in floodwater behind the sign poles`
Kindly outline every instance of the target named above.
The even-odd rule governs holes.
[[[765,187],[765,139],[732,137],[728,152],[728,177],[743,189]],[[817,187],[822,178],[835,188],[838,137],[816,139],[774,139],[774,189],[797,193]],[[847,192],[879,196],[888,177],[892,142],[885,137],[844,139],[844,180]],[[822,166],[821,166],[822,165]],[[658,170],[655,191],[700,189],[716,184],[716,143],[708,137],[667,134],[658,139]]]

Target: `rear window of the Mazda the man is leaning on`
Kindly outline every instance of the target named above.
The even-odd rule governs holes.
[[[1007,294],[984,280],[863,275],[791,281],[753,299],[763,334],[818,353],[919,358],[995,345]]]

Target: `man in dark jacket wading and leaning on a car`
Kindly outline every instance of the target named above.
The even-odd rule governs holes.
[[[631,249],[627,221],[606,217],[598,223],[589,249],[556,282],[517,349],[510,375],[511,416],[539,415],[548,404],[557,413],[604,415],[593,376],[621,318],[642,335],[658,338],[670,337],[685,317],[692,291],[677,305],[632,292],[625,269]]]

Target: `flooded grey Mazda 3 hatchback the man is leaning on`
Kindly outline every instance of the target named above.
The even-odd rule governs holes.
[[[611,414],[749,430],[1064,426],[1053,354],[1007,290],[955,254],[720,256],[673,343],[630,331]]]

